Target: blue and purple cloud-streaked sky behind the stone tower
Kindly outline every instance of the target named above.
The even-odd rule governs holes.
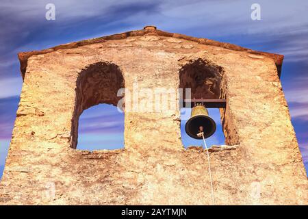
[[[55,21],[45,5],[55,4]],[[251,5],[261,5],[261,21],[251,20]],[[0,175],[8,151],[22,80],[17,53],[115,34],[145,25],[165,31],[239,44],[285,55],[281,82],[292,123],[308,168],[308,1],[14,1],[0,5]],[[99,141],[118,147],[122,117],[112,107],[89,109],[81,116],[79,146]],[[217,112],[210,112],[214,118]],[[98,118],[91,118],[97,116]],[[91,121],[106,121],[101,127]],[[104,134],[105,133],[105,134]],[[217,142],[222,137],[217,133]],[[95,138],[93,138],[95,136]],[[100,137],[98,137],[100,136]],[[103,139],[102,139],[103,138]],[[90,142],[92,140],[92,142]],[[190,141],[183,138],[183,142]],[[213,138],[214,141],[214,138]],[[100,144],[101,145],[101,144]]]

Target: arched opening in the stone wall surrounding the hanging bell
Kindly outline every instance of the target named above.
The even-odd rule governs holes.
[[[225,83],[223,68],[207,60],[190,60],[179,70],[179,88],[183,88],[183,99],[227,99]],[[190,93],[185,90],[187,88],[190,89]],[[216,133],[208,139],[209,144],[238,144],[237,134],[233,135],[236,132],[228,129],[228,124],[232,122],[229,121],[230,117],[226,116],[228,109],[211,108],[208,110],[209,116],[214,118],[217,125]],[[188,146],[188,142],[191,144],[198,142],[189,138],[183,129],[185,125],[183,122],[190,118],[190,112],[189,105],[181,110],[181,138],[184,146]]]

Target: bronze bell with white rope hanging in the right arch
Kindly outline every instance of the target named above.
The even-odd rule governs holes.
[[[216,131],[216,123],[209,117],[209,112],[204,105],[195,105],[192,107],[192,114],[185,125],[185,131],[188,136],[196,139],[202,139],[197,134],[201,131],[204,133],[204,138],[209,138]]]

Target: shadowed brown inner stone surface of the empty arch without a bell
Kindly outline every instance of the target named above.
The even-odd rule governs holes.
[[[116,64],[98,62],[81,70],[76,84],[71,143],[73,149],[77,148],[79,117],[84,110],[100,103],[116,107],[118,101],[122,98],[122,96],[117,96],[117,92],[124,87],[123,73]],[[101,114],[104,114],[104,112],[101,112]]]

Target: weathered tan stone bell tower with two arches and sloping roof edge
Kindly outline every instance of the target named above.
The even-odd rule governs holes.
[[[206,153],[183,148],[179,107],[128,111],[125,93],[125,149],[76,149],[80,114],[117,105],[118,90],[135,83],[226,100],[220,114],[232,147],[209,154],[216,204],[308,204],[279,80],[283,55],[148,26],[18,57],[23,89],[0,204],[210,205]]]

